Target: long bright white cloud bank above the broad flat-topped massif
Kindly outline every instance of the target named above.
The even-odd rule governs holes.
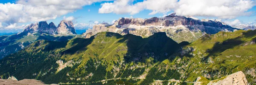
[[[181,16],[219,17],[232,19],[249,16],[248,9],[256,6],[255,0],[144,0],[132,4],[134,0],[116,0],[103,3],[99,13],[137,14],[143,10],[151,10],[149,15],[169,11]]]

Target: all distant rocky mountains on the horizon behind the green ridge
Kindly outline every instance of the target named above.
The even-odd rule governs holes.
[[[143,38],[149,37],[157,32],[165,32],[166,35],[176,42],[194,42],[204,34],[215,34],[219,31],[232,32],[239,30],[232,28],[218,20],[198,20],[194,17],[183,17],[170,14],[166,17],[141,18],[120,18],[113,25],[102,23],[93,26],[93,29],[76,35],[72,21],[62,20],[56,27],[54,23],[41,21],[26,26],[24,31],[12,36],[1,36],[0,59],[8,54],[15,53],[37,40],[65,41],[73,37],[91,36],[99,32],[115,32],[121,35],[134,34]],[[78,30],[79,33],[80,30]],[[52,38],[53,37],[53,38]],[[61,39],[61,40],[58,40]]]

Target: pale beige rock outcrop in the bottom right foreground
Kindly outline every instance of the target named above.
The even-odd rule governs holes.
[[[247,79],[242,71],[230,74],[220,79],[209,81],[205,78],[198,77],[194,85],[247,85]]]

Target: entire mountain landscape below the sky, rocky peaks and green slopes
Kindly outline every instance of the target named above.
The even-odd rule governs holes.
[[[63,85],[254,84],[255,42],[256,30],[175,14],[120,18],[81,35],[71,21],[42,21],[0,36],[0,77]]]

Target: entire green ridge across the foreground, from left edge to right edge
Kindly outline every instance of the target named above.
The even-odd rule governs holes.
[[[101,32],[90,39],[39,40],[0,60],[0,76],[47,84],[189,85],[243,71],[255,72],[256,31],[206,34],[178,44],[165,33],[148,38]],[[59,70],[59,71],[57,71]]]

